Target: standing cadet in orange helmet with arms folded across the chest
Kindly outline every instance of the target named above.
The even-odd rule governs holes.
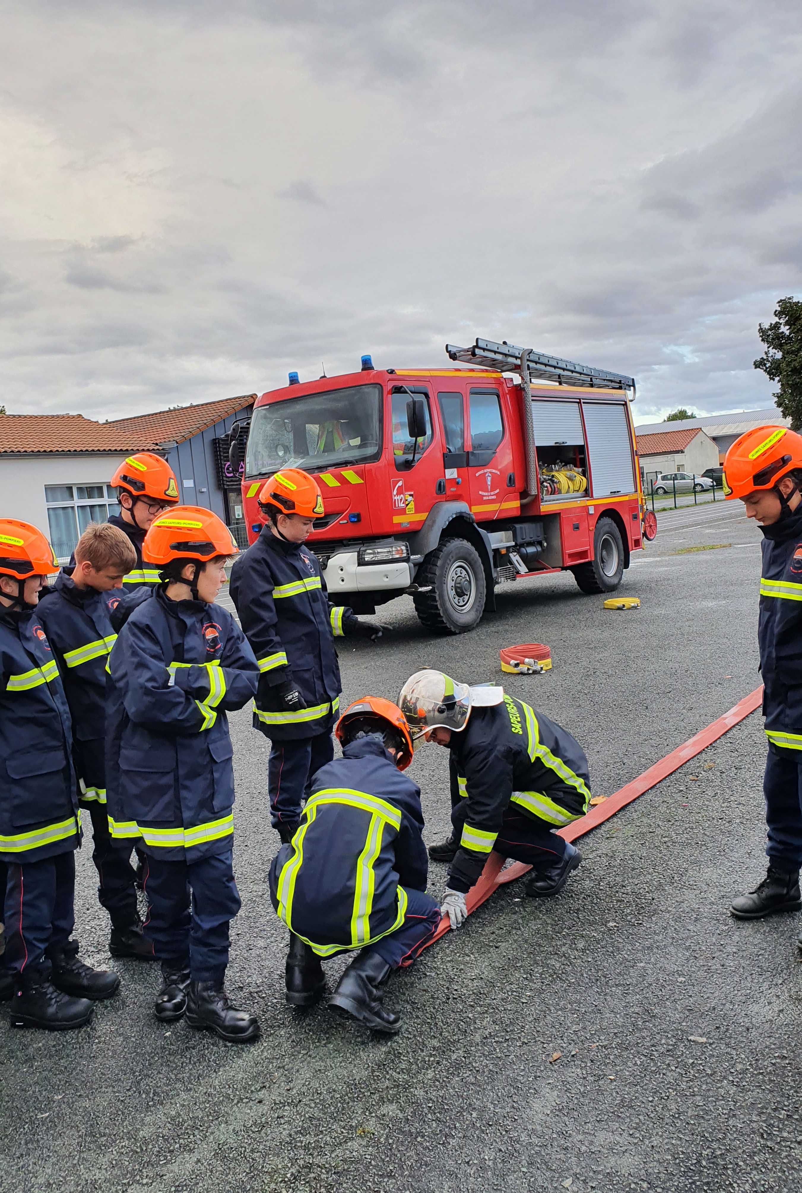
[[[178,506],[155,519],[143,550],[161,585],[129,612],[109,660],[109,823],[146,853],[143,932],[162,971],[156,1018],[186,1014],[191,1027],[240,1044],[259,1025],[223,988],[240,909],[226,711],[253,697],[259,669],[214,604],[237,548],[216,514]]]

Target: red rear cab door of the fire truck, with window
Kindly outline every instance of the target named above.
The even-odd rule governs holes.
[[[499,391],[491,387],[471,385],[468,391],[470,449],[468,451],[468,484],[470,512],[476,521],[504,518],[502,503],[514,496],[507,484],[512,472],[510,428],[501,416]]]

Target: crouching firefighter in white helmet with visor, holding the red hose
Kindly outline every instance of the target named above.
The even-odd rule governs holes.
[[[587,759],[542,712],[501,687],[469,687],[437,670],[411,675],[399,705],[415,744],[451,752],[451,836],[430,851],[449,861],[443,904],[451,927],[465,920],[465,894],[491,849],[531,865],[526,895],[557,895],[581,854],[555,829],[579,820],[591,798]]]

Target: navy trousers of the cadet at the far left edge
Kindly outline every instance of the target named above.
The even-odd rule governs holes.
[[[8,863],[5,925],[7,969],[42,964],[47,953],[64,948],[75,926],[75,854],[57,853],[42,861]]]

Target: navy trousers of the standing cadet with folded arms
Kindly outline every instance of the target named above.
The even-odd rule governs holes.
[[[159,960],[220,989],[228,965],[229,922],[240,910],[232,851],[198,861],[144,858],[148,914],[142,925]]]

